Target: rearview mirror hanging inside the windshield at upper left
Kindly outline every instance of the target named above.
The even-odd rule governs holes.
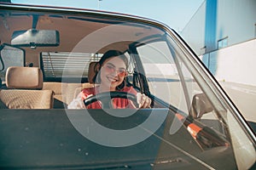
[[[59,31],[56,30],[23,30],[14,31],[11,44],[20,47],[52,47],[60,44]]]

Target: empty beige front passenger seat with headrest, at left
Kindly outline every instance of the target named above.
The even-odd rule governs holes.
[[[42,90],[43,74],[38,67],[9,67],[5,81],[8,89],[0,91],[0,99],[7,108],[52,108],[53,91]]]

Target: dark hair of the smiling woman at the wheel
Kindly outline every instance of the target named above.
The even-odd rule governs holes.
[[[126,58],[125,54],[120,52],[119,50],[108,50],[105,54],[103,54],[102,58],[99,60],[99,70],[101,70],[101,67],[104,63],[105,60],[113,58],[113,57],[118,57],[119,59],[122,59],[125,62],[126,69],[128,68],[128,59]],[[98,71],[96,72],[96,75],[93,77],[93,82],[99,83],[101,82],[100,80],[100,75],[98,76]],[[125,80],[117,87],[118,89],[124,88],[125,87]]]

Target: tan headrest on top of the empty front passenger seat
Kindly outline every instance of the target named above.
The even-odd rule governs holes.
[[[7,88],[43,88],[43,74],[38,67],[11,66],[6,71],[5,81]]]

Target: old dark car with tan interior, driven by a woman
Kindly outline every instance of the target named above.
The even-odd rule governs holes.
[[[176,31],[128,14],[0,8],[1,168],[255,169],[255,134]],[[67,109],[109,49],[151,107]]]

